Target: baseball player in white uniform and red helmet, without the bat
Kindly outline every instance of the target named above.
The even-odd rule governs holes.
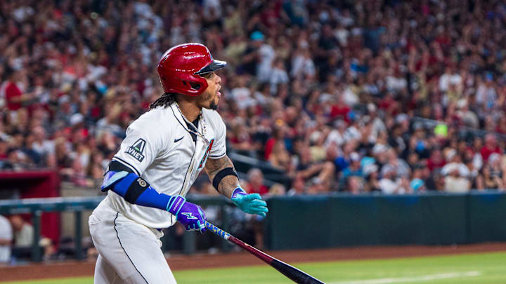
[[[184,198],[202,169],[242,211],[268,212],[259,194],[241,189],[226,156],[215,73],[225,65],[200,43],[174,46],[160,59],[164,94],[126,130],[101,187],[108,195],[89,217],[99,253],[95,283],[176,283],[160,237],[176,222],[205,231],[202,208]]]

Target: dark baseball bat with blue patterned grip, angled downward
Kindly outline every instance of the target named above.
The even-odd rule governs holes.
[[[241,241],[238,238],[235,238],[235,236],[232,236],[231,234],[227,233],[226,231],[223,231],[222,229],[219,229],[217,226],[214,226],[213,224],[207,221],[206,221],[206,228],[209,231],[212,231],[217,236],[220,236],[224,240],[229,241],[235,245],[238,245],[240,248],[243,248],[244,250],[247,250],[247,252],[251,253],[255,257],[258,257],[266,264],[273,266],[274,269],[280,271],[281,273],[283,273],[283,275],[292,279],[295,283],[325,284],[322,281],[314,278],[313,276],[310,276],[308,273],[300,271],[299,269],[296,269],[294,266],[286,264],[285,262],[282,262],[279,259],[275,259],[275,257],[271,257],[271,255],[268,255],[265,252],[262,252],[261,250],[252,247],[251,245],[248,245],[247,243]]]

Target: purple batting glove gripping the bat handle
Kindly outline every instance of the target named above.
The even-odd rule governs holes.
[[[167,211],[176,215],[176,219],[183,224],[186,231],[200,231],[200,233],[206,231],[204,211],[199,205],[186,201],[183,196],[172,196]]]

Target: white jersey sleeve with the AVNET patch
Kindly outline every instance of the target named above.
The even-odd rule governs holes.
[[[158,123],[138,119],[126,129],[126,137],[112,159],[141,176],[148,165],[166,149],[163,137]]]

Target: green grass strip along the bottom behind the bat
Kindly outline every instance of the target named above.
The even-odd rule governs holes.
[[[327,284],[506,283],[506,252],[439,257],[295,264]],[[270,266],[174,272],[178,283],[292,283]],[[89,284],[91,277],[8,282],[8,284]],[[3,283],[7,284],[7,283]]]

